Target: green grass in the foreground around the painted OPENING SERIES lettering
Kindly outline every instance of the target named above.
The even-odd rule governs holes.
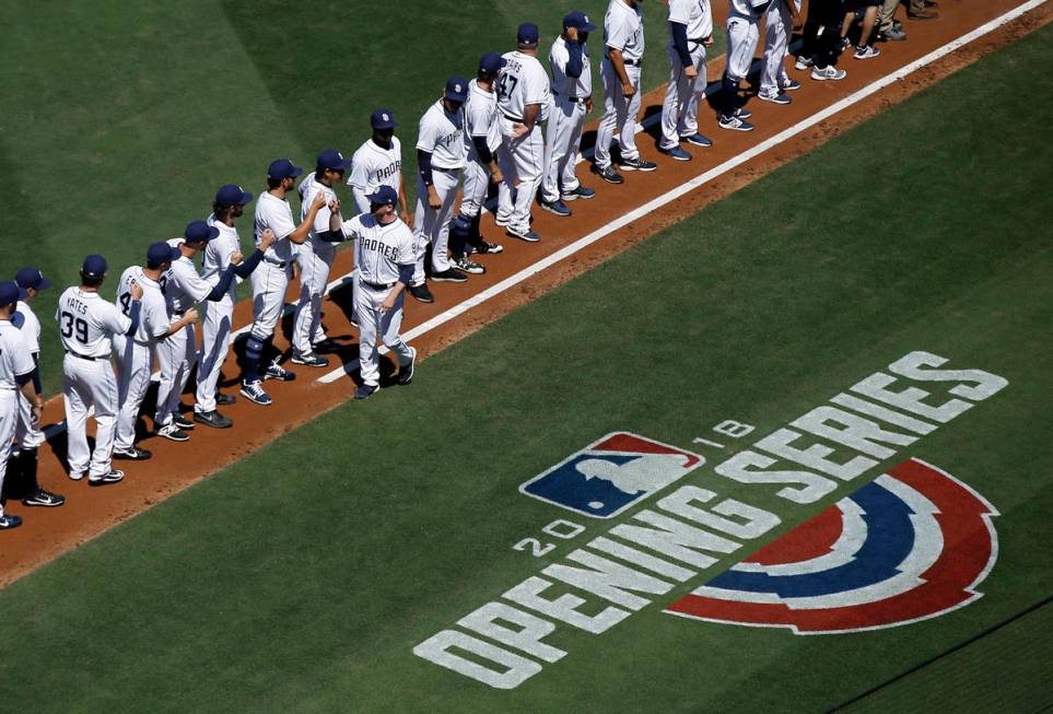
[[[229,5],[211,26],[244,31],[237,17]],[[351,72],[340,59],[326,58],[335,78]],[[3,707],[823,711],[932,658],[853,711],[1048,706],[1049,608],[939,655],[1053,593],[1053,130],[1031,71],[1051,63],[1046,27],[441,352],[412,387],[346,405],[8,587]],[[292,70],[273,75],[288,114],[269,116],[284,119],[246,119],[236,102],[229,119],[314,145],[327,134],[291,102]],[[258,89],[238,91],[258,103]],[[202,112],[185,141],[209,126]],[[253,175],[236,147],[233,163],[198,152],[200,165],[167,159],[187,185],[233,164]],[[74,163],[80,176],[90,160]],[[149,163],[148,176],[160,171]],[[36,180],[16,179],[23,191]],[[75,198],[81,184],[62,184]],[[147,185],[165,221],[195,204]],[[147,219],[107,210],[127,232]],[[149,218],[147,232],[160,225]],[[70,229],[44,225],[50,241]],[[1009,381],[884,464],[923,458],[997,507],[998,558],[978,601],[900,628],[795,636],[664,614],[694,582],[601,635],[559,628],[546,641],[570,654],[511,691],[413,655],[612,525],[530,500],[522,482],[611,431],[688,449],[724,419],[768,434],[913,350]],[[771,537],[861,485],[796,505],[717,476],[723,456],[705,455],[688,479],[777,514]],[[560,517],[588,530],[541,559],[512,549]]]

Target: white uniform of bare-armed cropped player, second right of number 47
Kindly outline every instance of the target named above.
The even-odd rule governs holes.
[[[596,165],[610,166],[610,144],[618,134],[622,159],[640,159],[636,149],[636,115],[640,114],[640,61],[644,54],[643,12],[631,8],[625,0],[611,0],[604,16],[604,45],[619,49],[625,61],[629,82],[636,87],[631,98],[625,97],[621,80],[604,57],[600,77],[604,80],[604,117],[596,130]]]

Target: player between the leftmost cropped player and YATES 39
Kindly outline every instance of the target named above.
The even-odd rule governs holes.
[[[51,286],[51,281],[44,277],[37,268],[22,268],[14,277],[14,282],[25,295],[19,301],[11,324],[22,330],[30,355],[33,358],[33,387],[37,394],[44,393],[40,384],[40,320],[30,307],[30,303],[40,294],[40,291]],[[40,431],[39,420],[33,418],[34,402],[19,397],[19,424],[14,433],[13,464],[21,477],[22,504],[27,506],[60,506],[66,499],[57,493],[50,493],[40,488],[37,481],[39,465],[38,448],[44,443],[44,432]],[[10,481],[10,476],[8,477]]]

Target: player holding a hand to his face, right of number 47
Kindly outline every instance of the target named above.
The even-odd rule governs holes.
[[[596,25],[574,11],[563,17],[563,34],[549,50],[552,70],[552,114],[545,142],[545,180],[541,208],[555,215],[571,215],[565,200],[593,198],[590,188],[577,180],[574,167],[582,148],[585,115],[593,110],[593,70],[588,59],[588,34]]]

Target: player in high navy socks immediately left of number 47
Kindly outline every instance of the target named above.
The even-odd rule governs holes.
[[[505,63],[496,52],[487,52],[479,58],[479,72],[468,82],[468,101],[465,103],[465,143],[468,145],[465,190],[460,212],[449,224],[449,244],[454,248],[453,262],[457,269],[475,274],[485,272],[485,267],[471,260],[467,250],[458,254],[457,247],[468,245],[472,253],[481,255],[504,250],[502,246],[482,239],[479,224],[490,184],[500,184],[504,179],[498,166],[501,130],[494,85]]]

